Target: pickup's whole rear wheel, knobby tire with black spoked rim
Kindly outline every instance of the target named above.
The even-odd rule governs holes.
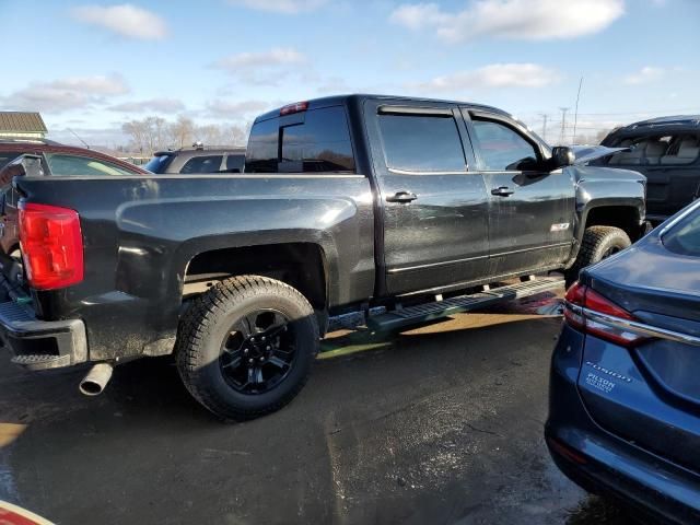
[[[183,316],[177,369],[214,415],[252,419],[299,394],[318,339],[314,310],[299,291],[266,277],[236,277],[198,296]]]

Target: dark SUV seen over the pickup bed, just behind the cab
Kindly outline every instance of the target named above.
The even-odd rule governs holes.
[[[242,173],[245,148],[192,147],[159,151],[143,167],[152,173]]]

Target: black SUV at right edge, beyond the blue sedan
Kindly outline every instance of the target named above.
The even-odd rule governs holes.
[[[646,218],[658,223],[700,195],[700,115],[661,117],[610,132],[602,142],[629,148],[592,164],[646,176]]]

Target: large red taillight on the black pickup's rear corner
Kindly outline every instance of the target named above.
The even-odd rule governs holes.
[[[19,223],[32,288],[51,290],[83,280],[83,237],[77,211],[21,202]]]

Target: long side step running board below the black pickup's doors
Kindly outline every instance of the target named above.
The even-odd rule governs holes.
[[[393,330],[404,326],[417,325],[462,312],[485,308],[503,301],[527,298],[556,290],[564,285],[564,280],[556,277],[542,277],[532,281],[518,282],[508,287],[493,288],[471,295],[459,295],[434,303],[423,303],[407,308],[394,310],[386,314],[368,318],[372,330]]]

